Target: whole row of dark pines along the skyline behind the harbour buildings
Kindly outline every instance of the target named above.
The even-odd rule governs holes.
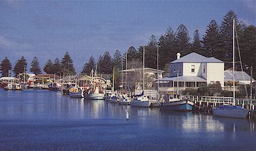
[[[145,46],[145,66],[149,68],[157,68],[157,48],[159,48],[159,67],[161,70],[168,70],[168,64],[174,61],[177,57],[177,53],[181,53],[182,56],[191,52],[200,53],[206,57],[216,57],[224,62],[232,61],[233,54],[233,19],[236,22],[237,37],[240,45],[240,53],[242,57],[243,65],[256,67],[256,27],[253,25],[246,26],[243,21],[238,21],[238,18],[232,10],[227,12],[221,21],[221,25],[215,20],[210,21],[206,27],[203,38],[199,36],[199,30],[196,29],[193,33],[193,38],[190,38],[190,34],[185,25],[179,25],[177,31],[173,31],[171,27],[167,28],[166,32],[160,36],[159,40],[156,40],[156,36],[152,35],[149,38],[147,46]],[[238,48],[236,48],[237,50]],[[81,73],[91,74],[92,70],[96,70],[98,74],[111,74],[113,68],[117,68],[116,71],[125,68],[125,58],[127,54],[127,66],[129,68],[137,68],[138,62],[143,61],[143,46],[134,48],[130,46],[128,50],[121,54],[119,50],[116,50],[113,57],[109,52],[100,55],[97,61],[91,56],[89,61],[83,66]],[[236,54],[238,57],[238,54]],[[123,64],[123,67],[121,66]],[[225,68],[230,68],[231,63],[226,63]],[[14,66],[14,74],[22,73],[23,70],[27,70],[27,62],[24,57],[21,57]],[[255,68],[256,69],[256,68]],[[0,64],[0,72],[2,76],[8,75],[8,70],[12,70],[12,64],[5,57]],[[43,67],[44,72],[47,74],[76,74],[73,66],[73,61],[66,52],[61,61],[55,59],[55,61],[48,60]],[[31,72],[40,74],[40,64],[36,57],[31,62]],[[253,72],[255,77],[256,72]],[[120,77],[120,76],[117,76]]]

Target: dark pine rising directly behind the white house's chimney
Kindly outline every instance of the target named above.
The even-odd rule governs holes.
[[[177,52],[181,55],[190,53],[190,34],[185,25],[181,24],[175,34],[175,42],[177,44]]]

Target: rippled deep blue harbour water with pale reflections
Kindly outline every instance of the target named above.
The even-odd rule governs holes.
[[[256,122],[0,89],[0,150],[256,150]]]

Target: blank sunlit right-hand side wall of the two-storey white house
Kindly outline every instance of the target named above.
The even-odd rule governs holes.
[[[224,87],[224,63],[207,63],[207,84],[211,81],[220,81],[221,87]]]

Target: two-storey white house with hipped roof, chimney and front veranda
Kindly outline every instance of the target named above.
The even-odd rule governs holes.
[[[189,53],[169,63],[169,77],[160,79],[160,90],[184,90],[187,87],[199,87],[219,82],[224,87],[224,62],[214,57],[205,57],[198,53]],[[167,87],[167,89],[166,89]]]

